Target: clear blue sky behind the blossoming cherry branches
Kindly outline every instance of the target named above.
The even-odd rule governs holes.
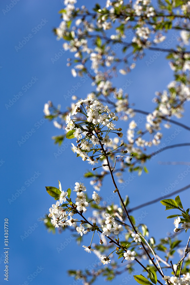
[[[80,78],[73,78],[70,68],[66,67],[69,53],[62,54],[56,62],[52,63],[52,58],[55,58],[62,49],[62,41],[57,41],[52,32],[52,29],[60,23],[58,11],[63,8],[61,1],[18,1],[14,6],[10,5],[11,3],[7,0],[0,3],[0,23],[3,27],[0,62],[2,88],[0,172],[3,210],[0,220],[1,229],[3,229],[4,219],[9,219],[9,284],[19,285],[28,282],[35,285],[50,285],[53,282],[64,282],[64,284],[75,285],[73,278],[68,277],[66,270],[84,269],[93,264],[97,257],[93,254],[88,255],[82,247],[78,247],[71,240],[69,231],[65,231],[62,235],[47,233],[40,219],[54,203],[46,193],[45,186],[57,187],[59,179],[62,188],[67,189],[83,177],[89,165],[76,159],[75,155],[69,151],[70,146],[55,158],[54,154],[58,153],[59,147],[54,144],[51,137],[61,134],[62,131],[55,129],[52,123],[44,120],[42,110],[44,103],[48,100],[52,100],[55,105],[60,103],[64,110],[70,104],[70,99],[65,100],[64,95],[72,85],[81,81]],[[81,3],[87,4],[88,1],[81,1]],[[10,10],[7,5],[11,6]],[[5,9],[9,11],[3,12]],[[22,42],[24,37],[27,42],[19,47],[19,42]],[[146,57],[137,62],[136,68],[130,74],[114,79],[117,87],[122,87],[126,80],[131,80],[132,83],[126,90],[130,96],[130,102],[136,102],[135,107],[145,111],[152,111],[154,108],[151,101],[154,92],[163,90],[173,80],[168,62],[164,59],[165,54],[160,54],[158,59],[147,66],[146,60],[153,55],[154,52],[147,52]],[[92,88],[88,79],[81,84],[75,94],[85,97],[93,90]],[[10,100],[13,103],[10,103]],[[10,107],[7,107],[8,104]],[[180,120],[187,125],[189,125],[187,115],[189,110],[189,105],[186,105],[186,114]],[[140,117],[145,120],[145,117],[140,114],[137,114],[136,120],[138,121]],[[128,122],[121,122],[121,124],[124,128]],[[166,144],[189,142],[189,133],[177,127],[179,135],[168,143],[166,139],[175,132],[175,128],[176,126],[173,125],[171,129],[164,131],[163,142],[165,141]],[[18,143],[25,135],[28,135],[28,139],[22,144]],[[179,184],[175,184],[172,191],[189,184],[189,173],[183,179],[179,178],[180,173],[183,173],[187,166],[158,164],[158,161],[188,160],[189,147],[162,152],[147,164],[149,174],[142,174],[141,177],[134,174],[135,179],[121,190],[122,196],[128,194],[130,206],[134,207],[160,197],[165,188],[175,180],[179,180]],[[129,174],[126,173],[126,179],[128,176]],[[85,186],[89,194],[92,194],[93,188],[89,185],[89,180],[85,182]],[[101,191],[108,196],[112,193],[111,187],[112,183],[106,179]],[[104,192],[101,193],[102,196]],[[13,201],[15,193],[20,194],[19,196],[17,194]],[[182,192],[180,197],[188,208],[189,190]],[[167,232],[173,231],[171,220],[166,219],[168,213],[164,212],[164,206],[160,203],[135,211],[134,217],[140,217],[142,211],[148,213],[143,223],[148,225],[150,236],[156,233],[158,240],[160,237],[165,237]],[[23,239],[21,236],[28,230],[31,233]],[[4,231],[1,232],[3,239]],[[85,242],[88,243],[88,240],[85,237]],[[69,245],[58,253],[57,248],[65,241],[69,241]],[[1,280],[3,280],[5,269],[2,261],[3,252],[3,242],[1,242]],[[75,257],[74,260],[71,256]],[[37,272],[37,275],[34,272]],[[113,282],[123,284],[124,276],[126,273]],[[100,278],[100,280],[103,282],[103,279]],[[5,280],[1,282],[6,284]],[[131,281],[131,284],[135,284],[134,282]]]

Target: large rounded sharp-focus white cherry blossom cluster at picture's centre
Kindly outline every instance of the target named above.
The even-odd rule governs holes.
[[[77,117],[77,114],[80,117]],[[73,116],[72,119],[71,115]],[[115,133],[120,138],[123,135],[120,132],[121,129],[116,129],[113,123],[118,120],[118,117],[100,101],[91,98],[81,99],[75,104],[71,115],[69,114],[65,118],[67,124],[65,130],[67,135],[72,134],[78,143],[77,146],[72,144],[71,149],[78,156],[81,156],[83,161],[87,160],[92,165],[98,163],[99,158],[94,160],[92,156],[88,155],[89,152],[93,150],[95,153],[101,150],[98,145],[109,144],[111,142],[108,135],[110,132]],[[97,146],[96,149],[95,146]],[[102,156],[101,152],[100,156]]]

